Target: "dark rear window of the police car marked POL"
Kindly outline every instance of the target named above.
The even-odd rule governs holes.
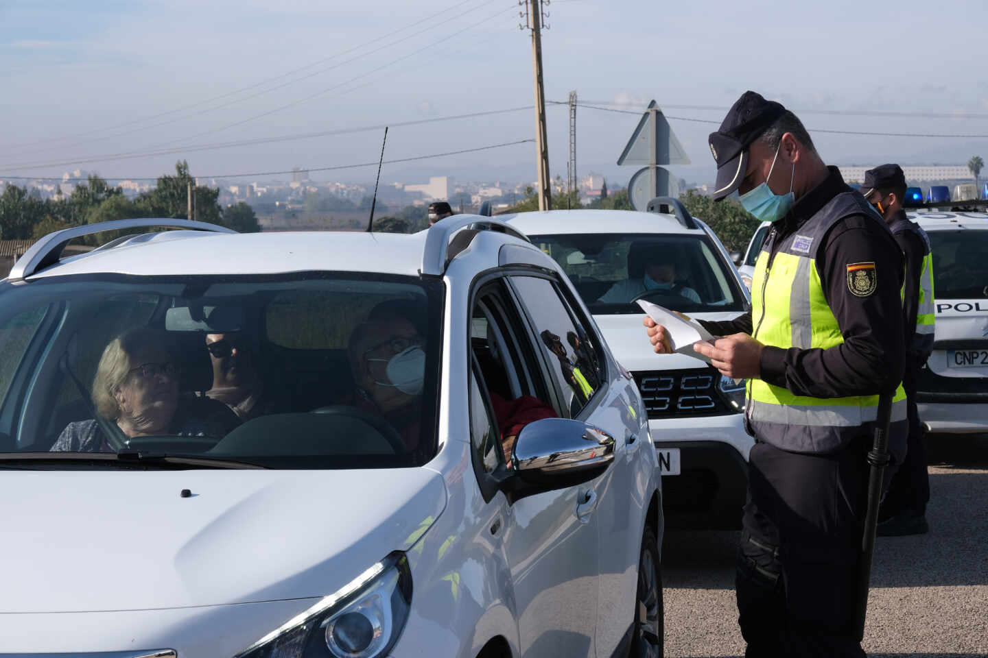
[[[981,299],[988,295],[988,231],[930,231],[934,296]]]

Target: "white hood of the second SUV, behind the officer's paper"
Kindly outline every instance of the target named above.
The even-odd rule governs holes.
[[[740,316],[738,311],[729,313],[696,313],[696,320],[730,320]],[[648,335],[641,324],[644,314],[621,316],[594,316],[594,322],[604,333],[617,362],[632,372],[641,370],[683,370],[702,368],[700,359],[684,354],[656,354],[648,342]]]

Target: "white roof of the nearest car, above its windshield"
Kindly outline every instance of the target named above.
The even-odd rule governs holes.
[[[66,258],[29,277],[282,274],[341,270],[418,275],[426,231],[222,234],[169,231],[136,236],[112,249]]]

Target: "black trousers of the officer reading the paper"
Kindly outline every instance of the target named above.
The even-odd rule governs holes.
[[[864,656],[855,605],[870,441],[832,455],[752,448],[736,576],[745,656]]]

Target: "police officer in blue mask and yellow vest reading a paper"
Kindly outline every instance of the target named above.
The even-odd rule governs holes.
[[[714,199],[773,225],[752,311],[703,322],[697,343],[747,379],[748,501],[736,595],[746,656],[864,656],[855,628],[865,455],[879,394],[893,396],[890,451],[905,453],[902,256],[864,197],[827,167],[799,119],[746,92],[710,134]],[[665,329],[645,319],[656,352]]]

